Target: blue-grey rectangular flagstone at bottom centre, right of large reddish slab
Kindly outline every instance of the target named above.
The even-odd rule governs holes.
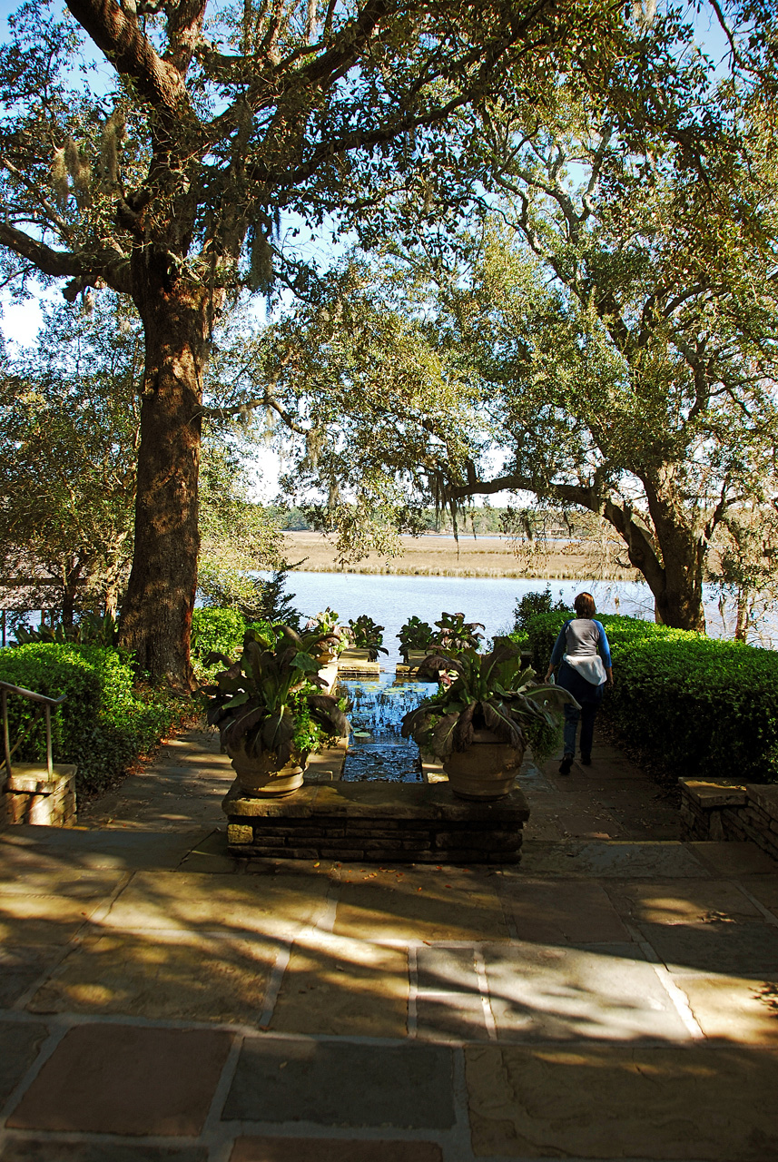
[[[447,1129],[453,1060],[442,1046],[246,1038],[222,1118]]]

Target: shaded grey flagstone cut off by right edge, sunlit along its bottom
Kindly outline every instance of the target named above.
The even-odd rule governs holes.
[[[672,973],[761,976],[778,970],[778,928],[754,921],[641,924]]]

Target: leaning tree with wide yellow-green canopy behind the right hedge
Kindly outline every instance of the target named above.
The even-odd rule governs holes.
[[[276,387],[309,424],[297,479],[398,519],[431,493],[588,509],[657,616],[701,630],[714,538],[727,530],[721,576],[741,596],[772,552],[743,523],[778,496],[769,110],[712,96],[730,139],[709,141],[701,182],[683,158],[625,155],[599,110],[560,98],[534,134],[502,114],[480,138],[503,151],[504,196],[471,216],[467,263],[426,238],[402,263],[352,263],[301,313],[298,374]]]

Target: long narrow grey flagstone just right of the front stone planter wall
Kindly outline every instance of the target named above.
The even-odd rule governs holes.
[[[635,880],[703,878],[711,874],[697,859],[694,844],[656,840],[567,840],[546,842],[525,840],[521,847],[521,873],[526,876],[591,876]],[[728,845],[727,845],[728,846]]]

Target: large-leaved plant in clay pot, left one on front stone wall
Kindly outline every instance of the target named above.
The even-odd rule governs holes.
[[[338,700],[322,694],[315,651],[323,637],[305,641],[288,625],[247,630],[240,658],[222,655],[228,668],[202,689],[246,796],[291,794],[308,755],[348,733]]]

